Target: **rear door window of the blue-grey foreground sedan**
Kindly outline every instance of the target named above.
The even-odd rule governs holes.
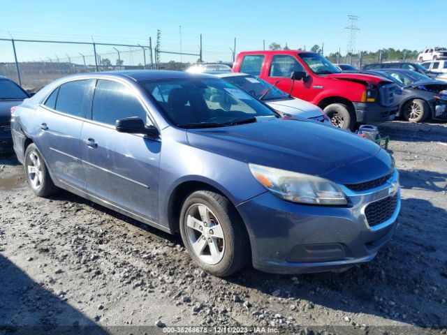
[[[89,80],[74,80],[73,82],[61,84],[54,109],[74,117],[85,117],[88,89]]]

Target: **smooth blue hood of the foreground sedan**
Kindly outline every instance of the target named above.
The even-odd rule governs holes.
[[[274,119],[223,128],[189,129],[189,144],[245,163],[356,184],[390,173],[390,156],[348,131],[307,119]]]

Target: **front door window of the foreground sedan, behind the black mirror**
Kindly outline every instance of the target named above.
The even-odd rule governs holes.
[[[147,123],[147,112],[129,87],[112,80],[98,80],[91,119],[115,126],[117,119],[125,117],[139,117]]]

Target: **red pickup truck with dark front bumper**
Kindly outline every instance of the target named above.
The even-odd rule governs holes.
[[[314,52],[240,52],[233,72],[256,75],[295,98],[318,105],[332,124],[344,129],[353,130],[358,123],[391,121],[397,112],[393,82],[375,75],[342,73]]]

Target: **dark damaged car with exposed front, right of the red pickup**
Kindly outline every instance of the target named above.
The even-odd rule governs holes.
[[[395,100],[399,103],[397,116],[411,122],[447,121],[447,82],[412,70],[383,68],[370,72],[393,80],[399,87],[395,91]]]

